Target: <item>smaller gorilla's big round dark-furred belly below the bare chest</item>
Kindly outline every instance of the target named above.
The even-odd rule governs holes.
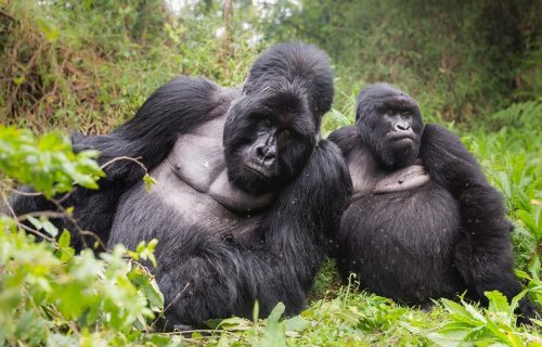
[[[348,226],[348,220],[360,224]],[[452,258],[459,220],[456,202],[433,181],[361,197],[343,219],[343,231],[359,235],[359,244],[351,245],[359,257],[347,261],[359,269],[362,285],[379,295],[411,304],[452,296],[460,283]]]

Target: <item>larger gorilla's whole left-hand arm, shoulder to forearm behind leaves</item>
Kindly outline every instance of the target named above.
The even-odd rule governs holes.
[[[91,137],[73,133],[75,152],[98,150],[100,165],[108,163],[104,167],[107,177],[100,180],[100,190],[76,188],[64,201],[64,206],[76,207],[77,224],[106,243],[118,197],[144,174],[133,160],[114,159],[120,156],[139,158],[149,170],[153,169],[168,155],[179,134],[223,114],[222,108],[229,107],[235,93],[235,90],[224,92],[206,79],[179,77],[156,90],[132,119],[112,133]],[[56,209],[43,196],[14,194],[11,204],[18,216],[33,210]],[[59,229],[74,230],[64,218],[52,221]],[[86,239],[87,244],[94,243],[93,237]],[[77,249],[82,247],[80,235],[74,234],[72,240]]]

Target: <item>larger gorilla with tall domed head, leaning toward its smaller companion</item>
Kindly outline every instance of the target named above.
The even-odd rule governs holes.
[[[319,134],[332,100],[327,56],[304,43],[264,51],[238,88],[173,79],[112,133],[74,140],[109,165],[100,191],[68,204],[83,228],[111,229],[108,247],[158,239],[167,330],[249,318],[256,300],[262,314],[279,301],[296,313],[350,192],[340,151]],[[157,184],[145,191],[119,156]],[[22,200],[18,213],[39,205]]]

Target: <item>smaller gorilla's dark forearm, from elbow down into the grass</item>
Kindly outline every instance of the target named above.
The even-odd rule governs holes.
[[[487,303],[485,292],[499,291],[508,300],[521,292],[514,274],[511,228],[501,194],[492,187],[472,187],[460,200],[462,234],[454,264],[469,288],[469,295]],[[534,306],[524,298],[517,313],[534,317]]]

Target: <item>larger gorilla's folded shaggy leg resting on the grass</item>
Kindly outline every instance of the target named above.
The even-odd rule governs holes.
[[[249,249],[211,240],[191,230],[177,235],[176,245],[156,249],[156,278],[165,301],[164,329],[199,326],[210,318],[250,318],[258,300],[261,317],[279,301],[287,312],[299,311],[305,295],[289,266],[267,249]],[[182,243],[179,240],[183,240]]]

